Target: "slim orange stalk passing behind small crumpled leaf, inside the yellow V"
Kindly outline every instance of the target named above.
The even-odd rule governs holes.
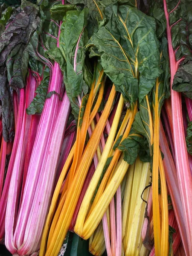
[[[134,117],[135,117],[136,113],[137,113],[137,102],[136,102],[136,104],[134,105],[134,110],[131,112],[131,118],[130,118],[129,121],[128,121],[128,125],[127,125],[127,127],[126,127],[126,129],[125,129],[125,132],[124,132],[123,136],[122,136],[121,142],[122,142],[126,137],[128,137],[128,134],[129,134],[129,132],[130,132],[130,130],[131,130],[131,125],[132,125],[133,122],[134,122]],[[121,143],[121,142],[120,142],[120,143]],[[110,176],[110,174],[111,174],[113,168],[116,167],[116,164],[117,164],[117,161],[119,160],[120,154],[121,154],[121,151],[120,151],[118,148],[116,148],[115,153],[114,153],[114,155],[113,155],[113,158],[112,158],[112,160],[111,160],[111,163],[110,163],[110,165],[109,165],[109,167],[108,167],[108,169],[107,169],[107,171],[106,171],[106,173],[105,173],[105,175],[104,175],[104,177],[103,177],[103,179],[102,179],[102,182],[101,182],[101,184],[100,184],[100,186],[99,186],[99,189],[98,189],[98,191],[97,191],[97,193],[96,193],[96,197],[95,197],[95,199],[94,199],[94,201],[93,201],[93,204],[92,204],[92,206],[91,206],[90,212],[93,211],[95,205],[96,205],[97,202],[99,201],[99,198],[101,197],[101,195],[102,195],[102,193],[103,193],[103,191],[104,191],[104,189],[105,189],[106,183],[107,183],[107,181],[108,181],[108,177]]]

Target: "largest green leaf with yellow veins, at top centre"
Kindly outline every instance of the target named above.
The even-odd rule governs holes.
[[[162,72],[155,21],[127,5],[108,6],[105,13],[111,15],[110,21],[90,38],[88,47],[96,47],[105,73],[124,99],[132,103],[139,97],[141,101],[152,85],[140,89],[139,74],[146,83]]]

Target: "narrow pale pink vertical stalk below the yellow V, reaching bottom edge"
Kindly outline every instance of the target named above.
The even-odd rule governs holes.
[[[115,256],[121,256],[122,248],[122,207],[121,186],[116,191],[116,251]]]

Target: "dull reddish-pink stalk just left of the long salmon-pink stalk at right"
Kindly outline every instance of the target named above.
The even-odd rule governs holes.
[[[181,203],[177,172],[176,172],[175,164],[172,158],[172,154],[169,150],[169,146],[166,141],[166,136],[164,134],[162,124],[160,124],[160,148],[161,148],[161,151],[164,152],[164,159],[163,159],[164,172],[166,176],[167,186],[169,188],[169,193],[172,199],[175,217],[177,219],[181,240],[183,242],[186,255],[189,255],[189,247],[188,247],[188,240],[187,240],[187,234],[186,234],[186,223],[184,218],[185,208],[183,208],[183,205]]]

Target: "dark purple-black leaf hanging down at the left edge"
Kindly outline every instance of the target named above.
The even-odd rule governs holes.
[[[12,141],[15,136],[12,89],[7,81],[5,67],[0,67],[0,110],[2,114],[3,139]]]

